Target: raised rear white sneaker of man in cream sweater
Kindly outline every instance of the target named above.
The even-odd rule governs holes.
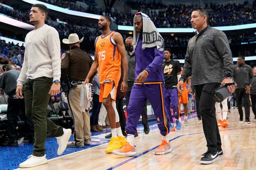
[[[62,136],[56,137],[57,142],[59,144],[59,148],[58,148],[58,152],[57,152],[58,155],[61,155],[65,151],[65,149],[67,147],[67,142],[71,136],[72,131],[70,128],[69,129],[63,128],[63,132],[64,132],[64,134]]]

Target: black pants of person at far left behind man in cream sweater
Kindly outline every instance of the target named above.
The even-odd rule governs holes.
[[[19,111],[21,111],[22,115],[20,118],[24,120],[25,129],[24,134],[26,134],[27,138],[34,138],[34,125],[31,116],[25,115],[25,100],[24,99],[13,99],[12,95],[8,98],[8,107],[7,107],[7,119],[8,119],[8,135],[9,140],[17,140],[17,121]],[[24,136],[25,137],[25,136]]]

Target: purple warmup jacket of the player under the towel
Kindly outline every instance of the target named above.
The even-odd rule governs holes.
[[[148,77],[144,81],[147,82],[164,82],[164,74],[162,63],[164,60],[164,50],[159,51],[156,46],[142,49],[142,34],[135,48],[135,80],[138,75],[146,70]]]

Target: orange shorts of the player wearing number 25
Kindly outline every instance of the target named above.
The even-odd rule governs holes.
[[[107,98],[110,94],[112,100],[115,101],[116,98],[116,87],[114,81],[110,81],[109,83],[100,84],[100,97],[99,102],[103,102],[104,98]]]

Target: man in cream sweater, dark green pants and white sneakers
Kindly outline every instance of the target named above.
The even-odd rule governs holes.
[[[34,167],[46,164],[44,143],[46,133],[55,136],[61,155],[67,146],[71,129],[55,125],[46,117],[46,108],[50,95],[60,93],[60,39],[57,30],[45,25],[48,8],[42,4],[32,6],[29,22],[35,25],[35,30],[25,38],[25,55],[23,67],[17,79],[16,94],[25,97],[26,115],[31,115],[35,126],[35,143],[33,154],[21,164],[20,168]],[[22,87],[24,84],[24,94]]]

